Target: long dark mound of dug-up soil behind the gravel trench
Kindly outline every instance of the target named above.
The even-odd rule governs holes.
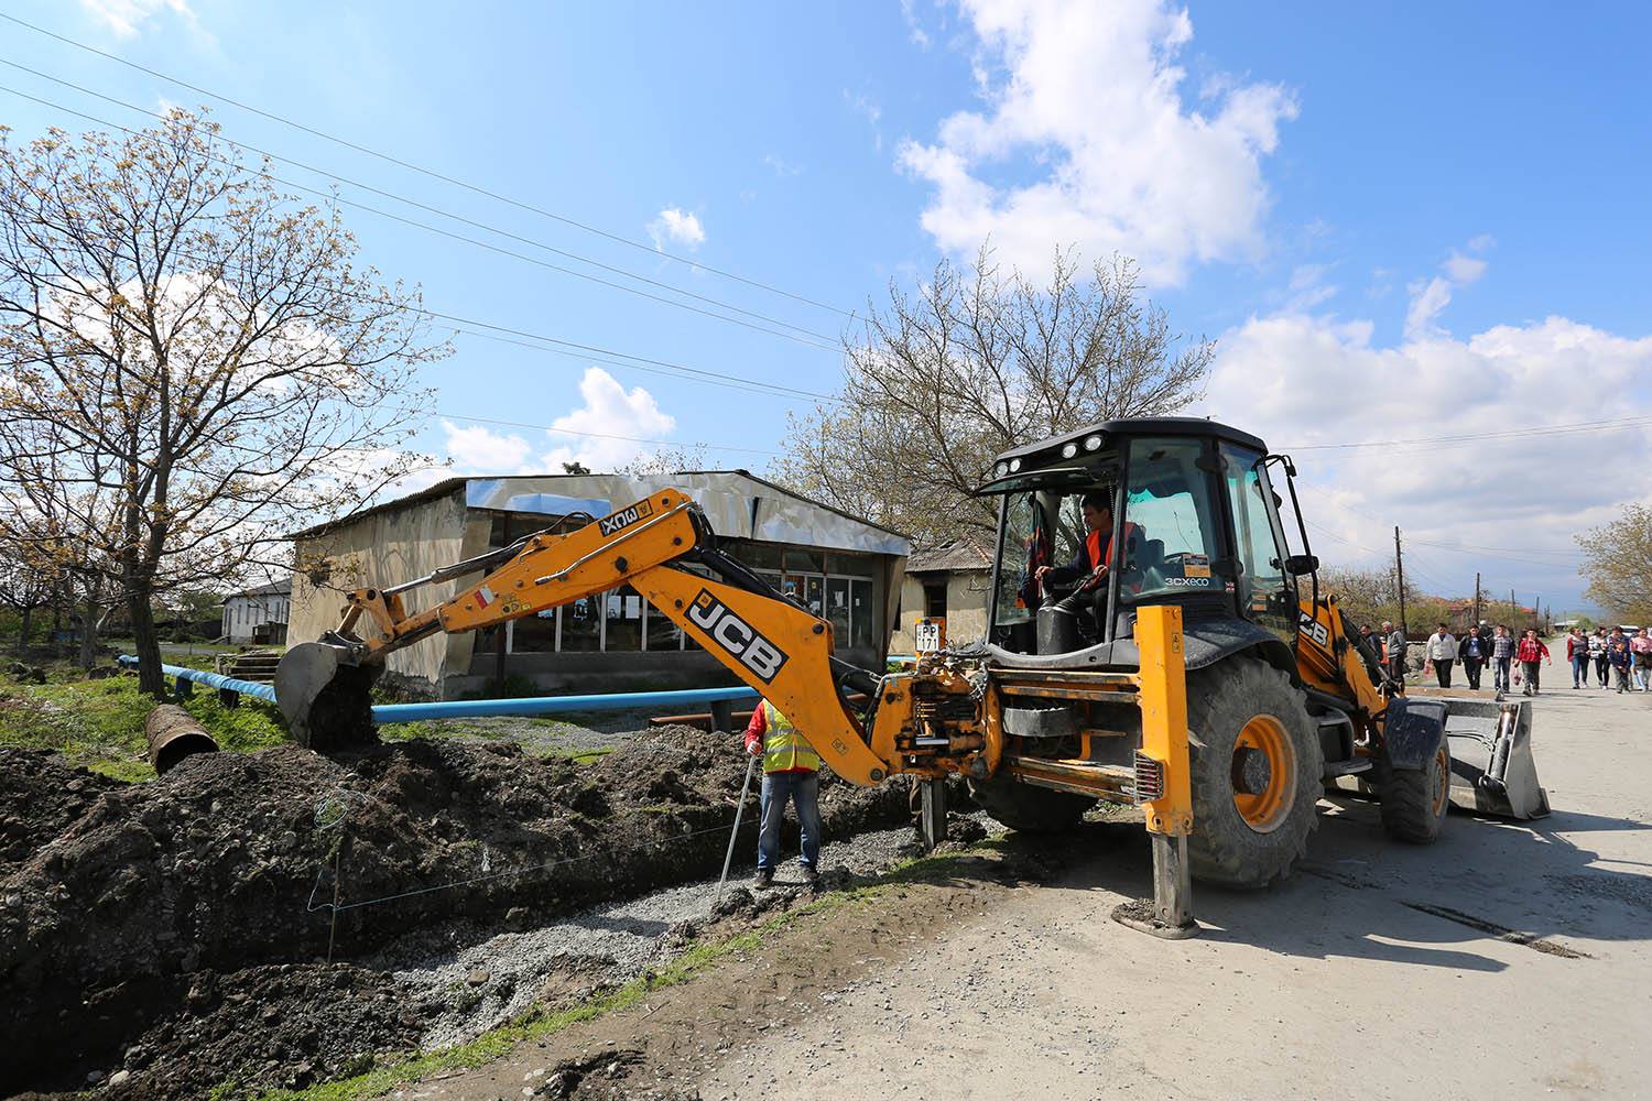
[[[31,850],[0,880],[0,1030],[18,1053],[0,1089],[119,1065],[188,1009],[197,972],[324,957],[334,891],[340,957],[358,957],[461,918],[502,926],[512,908],[548,918],[715,873],[743,773],[737,740],[691,728],[641,731],[593,766],[512,743],[279,746],[142,786],[0,753]],[[907,794],[823,776],[821,810],[846,837],[904,820]]]

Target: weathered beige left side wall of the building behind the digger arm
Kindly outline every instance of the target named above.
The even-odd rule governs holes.
[[[454,487],[433,500],[363,517],[317,538],[299,540],[299,568],[292,573],[292,611],[287,642],[311,642],[339,626],[344,594],[363,586],[383,586],[428,574],[438,566],[461,561],[487,543],[486,523],[474,551],[466,543],[474,538],[466,523],[464,487]],[[327,574],[317,586],[312,563],[325,561]],[[453,596],[458,581],[426,584],[403,594],[408,612],[418,612]],[[433,636],[390,655],[388,667],[405,677],[439,683],[444,659],[469,669],[472,637]]]

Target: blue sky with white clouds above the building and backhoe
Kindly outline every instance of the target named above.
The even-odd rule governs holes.
[[[1133,258],[1216,342],[1193,411],[1295,457],[1328,563],[1384,568],[1398,525],[1426,591],[1581,609],[1573,535],[1652,497],[1644,5],[0,13],[71,40],[0,20],[15,139],[206,106],[466,320],[426,482],[662,442],[762,474],[851,314],[991,239]]]

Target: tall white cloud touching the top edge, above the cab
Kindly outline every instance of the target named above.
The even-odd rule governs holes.
[[[1133,256],[1155,284],[1260,249],[1262,158],[1294,119],[1275,84],[1206,81],[1183,102],[1186,12],[1161,0],[961,0],[990,107],[960,111],[900,163],[933,185],[922,224],[952,253],[988,236],[1024,271],[1057,246]],[[1028,182],[1031,165],[1037,175]]]

